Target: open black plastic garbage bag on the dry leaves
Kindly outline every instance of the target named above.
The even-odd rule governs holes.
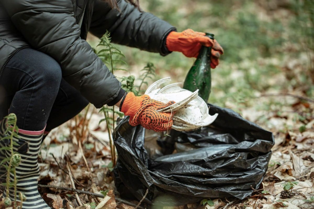
[[[252,194],[251,185],[260,186],[273,134],[233,110],[208,106],[211,115],[219,114],[213,124],[196,132],[171,131],[171,137],[160,138],[164,150],[157,156],[144,147],[143,127],[130,126],[128,117],[118,122],[114,178],[122,197],[141,200],[148,189],[146,203],[183,205],[203,198],[244,199]],[[167,154],[175,146],[181,151]]]

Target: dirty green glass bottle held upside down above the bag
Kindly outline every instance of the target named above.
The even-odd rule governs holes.
[[[206,33],[206,36],[214,40],[214,34]],[[197,59],[187,73],[187,77],[183,83],[183,88],[189,91],[194,92],[196,89],[199,89],[198,96],[204,99],[206,103],[208,102],[212,85],[210,72],[211,48],[202,46]]]

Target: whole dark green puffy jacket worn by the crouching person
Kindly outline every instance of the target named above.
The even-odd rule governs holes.
[[[100,38],[108,30],[114,43],[166,55],[165,37],[175,28],[124,0],[118,6],[120,12],[104,0],[0,0],[0,77],[10,57],[31,47],[54,58],[95,107],[119,101],[121,83],[85,41],[88,31]]]

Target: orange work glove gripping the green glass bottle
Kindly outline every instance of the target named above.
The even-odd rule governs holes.
[[[169,51],[180,51],[187,57],[197,57],[202,45],[212,47],[210,67],[215,68],[219,64],[219,57],[224,50],[216,40],[206,37],[205,33],[186,29],[181,33],[172,31],[166,38],[166,46]]]

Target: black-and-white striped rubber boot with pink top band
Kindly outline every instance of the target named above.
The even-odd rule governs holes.
[[[41,147],[41,140],[44,130],[42,131],[24,131],[19,129],[19,139],[14,138],[18,145],[14,145],[14,151],[20,153],[21,162],[16,168],[17,175],[17,196],[22,192],[26,200],[23,201],[22,209],[50,209],[38,192],[39,166],[37,162],[38,153]],[[8,135],[11,131],[8,132]],[[6,146],[8,143],[4,142]],[[6,157],[11,157],[9,151],[5,151]],[[8,165],[8,163],[7,163]],[[14,180],[14,175],[10,174],[10,181]],[[6,189],[3,192],[6,197]],[[9,197],[14,201],[14,188],[9,189]],[[20,201],[18,199],[18,201]]]

